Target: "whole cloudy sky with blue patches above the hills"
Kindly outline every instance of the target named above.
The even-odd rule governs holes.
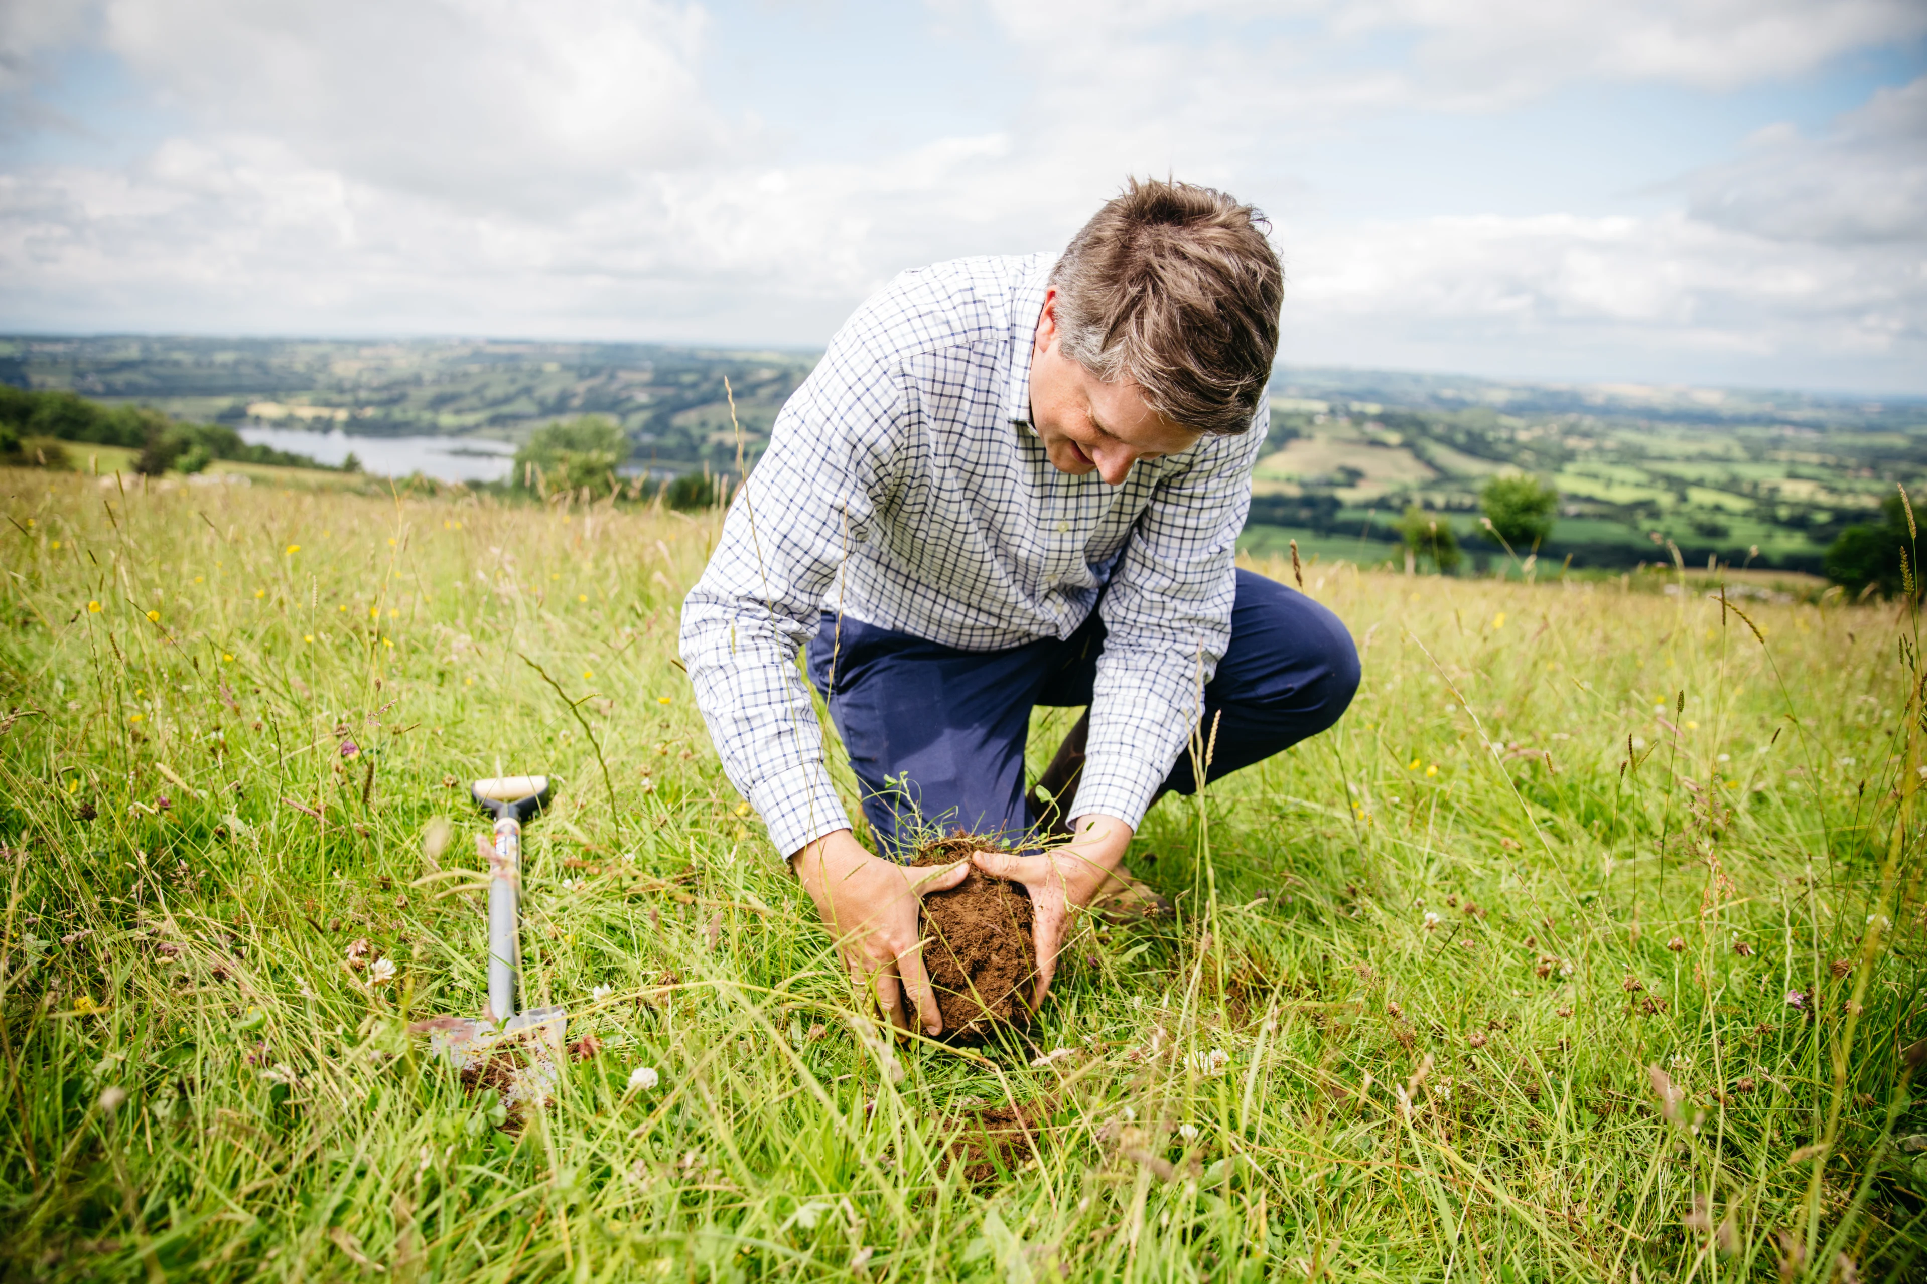
[[[0,0],[0,331],[817,348],[1127,175],[1280,358],[1927,393],[1921,0]]]

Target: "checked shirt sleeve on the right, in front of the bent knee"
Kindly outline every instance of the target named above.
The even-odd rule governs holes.
[[[1104,651],[1071,820],[1104,814],[1137,828],[1185,751],[1204,683],[1231,643],[1237,535],[1270,422],[1266,402],[1245,433],[1201,441],[1123,547],[1098,604]]]

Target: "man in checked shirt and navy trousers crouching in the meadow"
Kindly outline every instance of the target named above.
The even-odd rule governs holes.
[[[1041,1005],[1150,803],[1193,791],[1195,758],[1214,780],[1322,732],[1359,685],[1330,610],[1233,566],[1281,302],[1260,214],[1133,181],[1062,256],[904,273],[777,416],[682,656],[730,782],[900,1026],[942,1030],[917,897],[967,870],[856,839],[798,649],[884,855],[917,828],[1068,824],[1043,855],[973,857],[1031,893]],[[1035,705],[1089,708],[1031,803]]]

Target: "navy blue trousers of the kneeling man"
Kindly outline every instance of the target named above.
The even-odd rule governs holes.
[[[877,847],[898,851],[919,826],[1025,834],[1031,708],[1089,705],[1102,651],[1095,610],[1064,641],[1008,651],[958,651],[848,616],[838,631],[825,614],[807,647],[809,680],[829,691]],[[1222,710],[1208,780],[1324,732],[1357,689],[1359,653],[1337,616],[1276,579],[1237,572],[1231,645],[1204,687],[1202,726]],[[1164,787],[1197,787],[1189,753]]]

